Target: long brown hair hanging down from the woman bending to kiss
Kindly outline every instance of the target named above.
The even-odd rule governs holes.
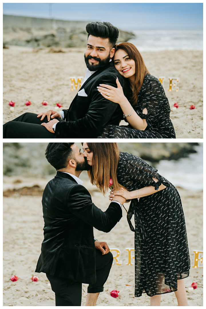
[[[115,189],[124,188],[117,181],[117,166],[120,159],[117,143],[87,143],[87,146],[93,152],[93,165],[87,172],[91,183],[95,184],[104,195],[110,187],[110,177]]]

